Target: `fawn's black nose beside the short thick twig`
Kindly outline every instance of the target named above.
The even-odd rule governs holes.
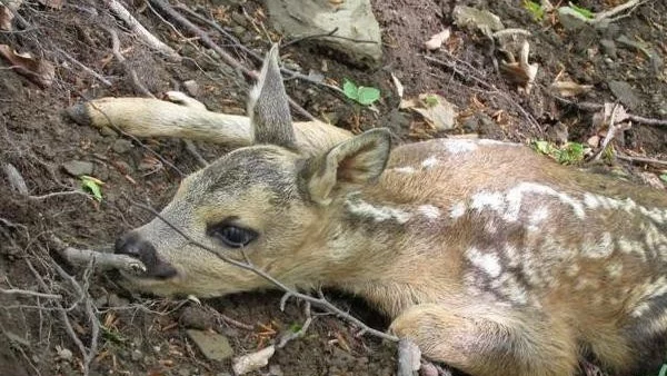
[[[130,231],[116,240],[116,254],[127,255],[143,263],[147,269],[146,277],[165,279],[176,275],[176,269],[158,257],[156,247],[135,231]]]

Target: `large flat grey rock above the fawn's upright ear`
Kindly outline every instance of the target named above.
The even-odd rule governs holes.
[[[358,66],[377,67],[382,58],[380,26],[370,0],[346,0],[338,7],[328,1],[266,0],[269,20],[286,38],[326,34],[310,41],[331,48]],[[371,41],[371,42],[360,42]]]

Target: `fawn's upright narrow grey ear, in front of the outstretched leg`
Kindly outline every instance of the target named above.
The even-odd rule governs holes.
[[[250,90],[248,116],[255,144],[293,148],[295,130],[278,58],[278,44],[273,44],[265,58],[257,85]]]

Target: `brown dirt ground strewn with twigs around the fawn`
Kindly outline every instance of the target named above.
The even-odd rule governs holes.
[[[2,375],[78,375],[83,372],[86,356],[91,357],[91,375],[228,375],[230,362],[207,360],[186,335],[188,328],[221,333],[230,340],[235,354],[242,355],[266,346],[281,330],[305,320],[300,305],[288,304],[286,311],[280,311],[280,294],[275,291],[210,299],[202,301],[203,306],[189,300],[135,296],[118,286],[112,274],[82,274],[60,263],[52,251],[51,235],[78,248],[111,245],[123,231],[151,217],[133,206],[132,200],[161,208],[182,176],[198,168],[179,140],[142,139],[140,145],[116,133],[78,126],[62,113],[67,107],[93,98],[141,96],[111,53],[107,28],[118,31],[128,66],[155,96],[185,90],[183,82],[195,80],[198,90],[193,96],[209,109],[245,112],[251,82],[216,59],[189,33],[179,34],[178,28],[159,17],[150,2],[126,2],[148,30],[187,59],[175,63],[151,52],[109,13],[103,2],[94,0],[68,0],[60,9],[46,7],[43,1],[27,1],[19,13],[29,26],[20,31],[0,32],[0,44],[31,52],[56,67],[52,85],[41,88],[0,60],[0,165],[14,166],[31,196],[27,198],[10,189],[6,175],[0,175],[0,287],[61,296],[56,300],[48,296],[0,294]],[[619,2],[586,0],[578,4],[600,11]],[[248,21],[269,28],[261,3],[222,0],[183,3],[236,32],[245,46],[260,53],[267,50],[267,36],[258,33]],[[488,40],[478,32],[454,26],[442,50],[424,50],[424,41],[450,27],[452,21],[455,1],[435,0],[372,1],[384,39],[385,57],[379,69],[351,68],[332,58],[330,51],[315,49],[307,41],[281,50],[286,61],[297,63],[306,75],[309,69],[321,70],[326,60],[327,79],[341,85],[344,78],[349,78],[379,88],[382,97],[377,113],[359,111],[331,91],[298,80],[287,81],[288,92],[316,117],[336,126],[354,130],[387,126],[405,142],[447,133],[478,133],[520,142],[537,139],[586,142],[600,129],[593,126],[594,112],[576,103],[615,101],[610,85],[616,81],[633,88],[631,113],[667,118],[665,66],[636,48],[616,43],[611,50],[600,42],[626,36],[650,46],[664,61],[667,59],[664,1],[643,6],[607,29],[577,32],[568,32],[550,20],[534,21],[518,0],[456,3],[488,9],[506,27],[532,33],[530,61],[539,63],[539,72],[529,96],[518,93],[516,85],[496,72],[492,59],[498,56],[489,52]],[[258,68],[259,61],[233,41],[199,24],[246,67]],[[427,60],[425,55],[440,63]],[[101,75],[110,86],[101,83],[73,60]],[[406,98],[436,92],[458,106],[457,126],[447,131],[436,130],[416,113],[399,110],[400,99],[391,73],[404,83]],[[548,87],[564,75],[578,83],[591,85],[591,91],[570,99],[576,103],[555,99]],[[634,123],[615,142],[617,150],[667,160],[667,128]],[[225,152],[220,146],[206,142],[197,146],[208,160]],[[86,195],[50,195],[80,188],[80,181],[62,168],[72,160],[92,164],[90,175],[104,182],[101,202]],[[620,166],[631,172],[661,174],[655,164]],[[386,319],[362,301],[336,291],[328,294],[336,304],[369,325],[378,329],[387,327]],[[93,325],[91,315],[99,325]],[[336,317],[318,315],[303,338],[277,350],[270,367],[253,375],[392,375],[396,347],[370,336],[357,337],[356,332]]]

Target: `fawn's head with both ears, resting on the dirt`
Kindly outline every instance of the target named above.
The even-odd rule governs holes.
[[[299,152],[276,46],[250,92],[248,113],[253,146],[185,178],[159,217],[118,239],[117,253],[147,266],[145,275],[127,276],[135,287],[219,296],[267,286],[216,254],[250,260],[286,284],[308,283],[303,270],[317,276],[326,267],[326,251],[309,245],[321,234],[336,195],[380,176],[389,157],[388,131],[368,131],[320,155]]]

